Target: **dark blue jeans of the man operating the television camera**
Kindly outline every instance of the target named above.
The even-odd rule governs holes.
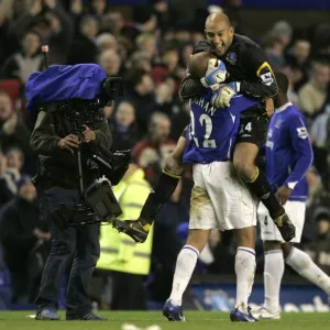
[[[61,202],[73,205],[79,202],[78,190],[62,187],[37,189],[37,197],[44,218],[47,218]],[[87,224],[61,231],[52,221],[47,220],[47,224],[52,234],[52,250],[35,301],[37,311],[44,308],[57,309],[67,262],[74,260],[67,286],[66,316],[85,316],[90,311],[88,284],[100,256],[99,227]]]

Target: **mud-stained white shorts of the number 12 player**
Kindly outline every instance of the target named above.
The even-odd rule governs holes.
[[[194,164],[189,229],[221,231],[256,226],[257,199],[231,162]]]

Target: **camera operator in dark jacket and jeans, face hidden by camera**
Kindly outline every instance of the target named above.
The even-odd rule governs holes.
[[[37,197],[52,235],[52,250],[45,265],[36,298],[36,319],[59,320],[56,312],[58,294],[69,260],[74,260],[66,296],[67,320],[107,320],[91,312],[88,284],[100,255],[98,224],[80,224],[59,230],[48,216],[59,204],[78,205],[79,177],[77,151],[86,145],[110,150],[112,136],[99,109],[98,122],[84,124],[80,134],[72,133],[70,124],[61,111],[40,111],[31,135],[31,146],[38,154]],[[96,121],[96,120],[95,120]],[[88,163],[81,158],[84,185],[94,183]]]

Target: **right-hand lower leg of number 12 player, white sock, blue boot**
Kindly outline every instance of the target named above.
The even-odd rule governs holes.
[[[256,322],[248,302],[255,273],[255,228],[237,229],[235,235],[239,245],[235,256],[237,301],[230,319],[233,322]]]

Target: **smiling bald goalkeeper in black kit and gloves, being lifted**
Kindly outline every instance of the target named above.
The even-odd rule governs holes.
[[[210,14],[206,20],[206,36],[196,45],[195,53],[208,52],[221,59],[209,61],[204,78],[187,77],[180,87],[183,98],[202,95],[208,87],[219,87],[212,97],[217,108],[229,107],[235,94],[242,94],[265,100],[277,94],[276,79],[267,63],[264,51],[250,38],[234,34],[229,18],[223,13]],[[260,146],[264,144],[268,125],[265,105],[258,105],[241,114],[241,127],[233,153],[233,165],[239,176],[251,191],[265,205],[283,239],[290,241],[295,237],[285,209],[277,201],[272,187],[263,172],[255,165]],[[150,194],[138,220],[116,222],[114,226],[133,238],[144,242],[155,215],[174,191],[179,175],[174,175],[166,168],[163,170],[158,185]]]

